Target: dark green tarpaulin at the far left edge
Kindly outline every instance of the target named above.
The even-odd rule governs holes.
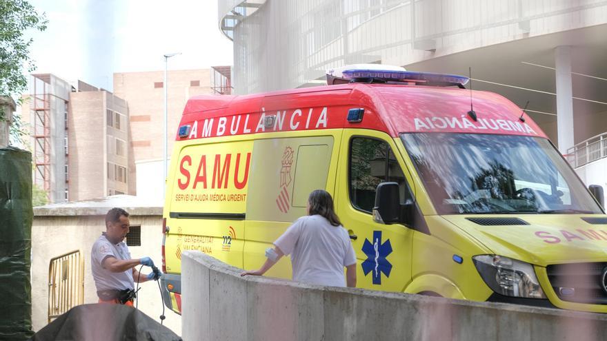
[[[0,148],[0,340],[32,333],[32,154]]]

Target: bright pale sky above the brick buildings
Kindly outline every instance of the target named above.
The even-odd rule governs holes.
[[[30,0],[49,21],[28,32],[37,73],[112,91],[114,72],[232,65],[232,42],[219,30],[217,0]]]

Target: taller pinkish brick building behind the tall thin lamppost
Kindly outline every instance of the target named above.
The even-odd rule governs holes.
[[[226,91],[226,81],[212,82],[212,69],[168,72],[168,158],[172,152],[183,107],[191,96]],[[225,73],[225,72],[224,72]],[[228,72],[229,74],[229,72]],[[218,77],[213,77],[218,79]],[[130,112],[130,136],[137,196],[163,198],[164,72],[120,72],[114,74],[114,92],[125,99]],[[212,84],[218,83],[215,86]],[[227,83],[229,87],[229,80]],[[215,87],[221,87],[214,90]]]

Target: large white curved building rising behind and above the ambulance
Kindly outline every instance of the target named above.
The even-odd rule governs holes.
[[[236,94],[322,85],[326,70],[352,63],[470,75],[468,87],[526,109],[568,158],[598,153],[607,174],[607,1],[218,4],[219,28],[234,43]],[[595,182],[607,186],[605,177],[587,180]]]

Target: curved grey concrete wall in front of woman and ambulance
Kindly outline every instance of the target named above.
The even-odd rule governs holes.
[[[603,340],[607,316],[239,276],[182,255],[183,340]]]

